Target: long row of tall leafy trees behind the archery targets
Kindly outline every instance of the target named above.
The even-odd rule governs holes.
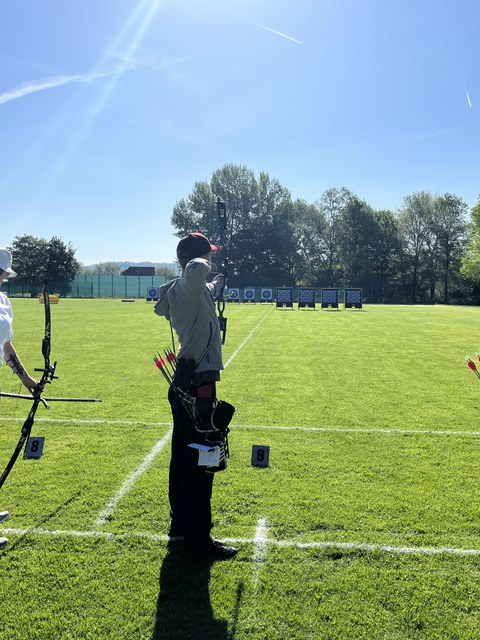
[[[397,211],[376,210],[345,187],[293,200],[268,173],[227,164],[179,200],[179,237],[219,239],[216,198],[226,202],[231,286],[361,287],[389,303],[480,301],[480,201],[420,191]]]

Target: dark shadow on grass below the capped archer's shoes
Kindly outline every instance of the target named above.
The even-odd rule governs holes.
[[[211,561],[186,558],[169,543],[160,570],[160,593],[151,640],[228,640],[226,620],[215,620],[210,602]]]

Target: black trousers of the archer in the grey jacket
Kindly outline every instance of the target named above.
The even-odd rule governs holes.
[[[178,396],[170,389],[173,436],[168,497],[171,530],[183,534],[185,541],[201,542],[212,529],[212,488],[214,474],[198,466],[198,451],[188,447],[198,442],[195,426]]]

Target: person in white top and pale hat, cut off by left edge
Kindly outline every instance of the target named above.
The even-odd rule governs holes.
[[[17,274],[12,269],[12,254],[8,249],[0,247],[0,285],[15,278]],[[20,362],[15,347],[11,340],[13,338],[12,331],[13,312],[12,305],[8,297],[0,291],[0,366],[3,361],[8,364],[13,373],[16,373],[25,387],[33,392],[37,386],[37,381],[30,377],[25,367]],[[0,511],[0,523],[8,519],[8,511]],[[7,538],[0,537],[0,549],[7,545]]]

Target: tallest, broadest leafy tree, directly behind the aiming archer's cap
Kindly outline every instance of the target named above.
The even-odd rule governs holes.
[[[244,165],[226,164],[214,171],[210,183],[196,182],[191,194],[176,203],[171,221],[177,235],[202,231],[218,242],[217,197],[228,212],[226,239],[234,271],[230,281],[242,286],[291,278],[297,254],[288,190],[265,172],[257,180]]]

